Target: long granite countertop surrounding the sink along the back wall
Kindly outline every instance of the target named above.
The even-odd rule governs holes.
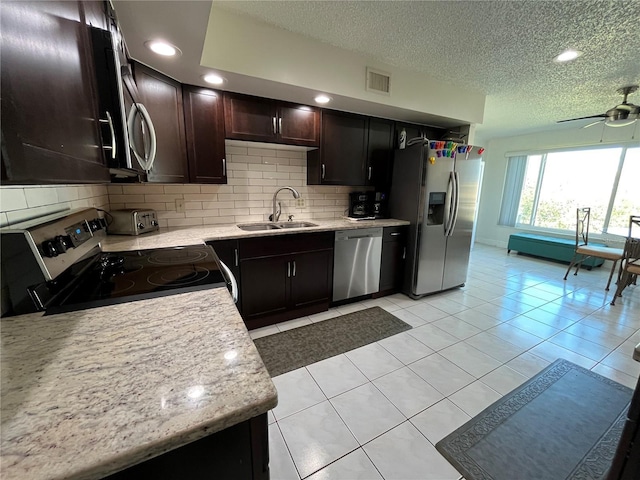
[[[305,220],[307,221],[307,220]],[[379,220],[308,220],[316,227],[287,228],[279,230],[260,230],[248,232],[240,229],[236,224],[204,225],[197,227],[161,228],[155,232],[138,236],[109,235],[101,242],[105,252],[126,250],[145,250],[148,248],[165,248],[185,245],[198,245],[209,240],[223,240],[233,238],[266,237],[273,235],[291,235],[297,233],[329,232],[356,228],[397,227],[409,225],[405,220],[385,218]]]

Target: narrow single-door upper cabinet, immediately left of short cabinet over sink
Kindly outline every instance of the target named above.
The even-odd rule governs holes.
[[[192,183],[227,183],[222,94],[182,86],[184,123]]]

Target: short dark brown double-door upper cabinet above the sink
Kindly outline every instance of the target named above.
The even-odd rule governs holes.
[[[317,147],[315,107],[240,94],[224,96],[226,138]]]

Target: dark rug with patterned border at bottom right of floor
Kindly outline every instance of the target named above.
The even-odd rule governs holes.
[[[466,480],[603,479],[632,393],[557,360],[436,448]]]

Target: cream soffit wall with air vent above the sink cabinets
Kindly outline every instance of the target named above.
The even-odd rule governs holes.
[[[230,45],[233,48],[229,48]],[[201,65],[341,96],[344,101],[357,99],[390,105],[456,119],[460,123],[481,123],[484,116],[485,95],[479,91],[461,89],[424,74],[374,62],[248,16],[216,8],[215,3],[211,8]],[[392,74],[390,96],[365,90],[367,66]],[[290,100],[308,103],[311,98]],[[340,106],[331,108],[341,109]]]

